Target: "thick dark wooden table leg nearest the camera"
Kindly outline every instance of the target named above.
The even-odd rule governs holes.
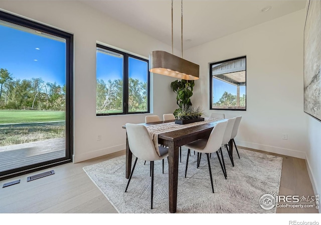
[[[169,144],[169,205],[170,212],[176,212],[177,186],[179,174],[179,146],[173,141]]]

